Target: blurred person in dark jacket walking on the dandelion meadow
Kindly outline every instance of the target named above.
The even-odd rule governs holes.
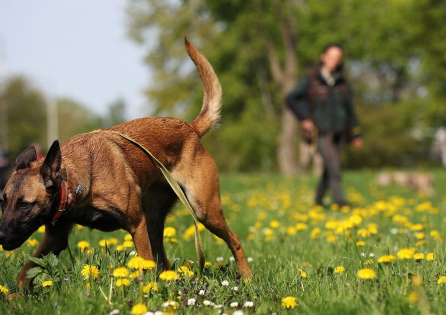
[[[343,73],[343,48],[326,45],[317,67],[297,83],[286,102],[301,123],[301,135],[306,143],[315,142],[324,161],[315,203],[330,188],[333,202],[347,205],[341,188],[341,157],[346,142],[355,149],[362,147],[361,128],[353,106],[351,86]]]

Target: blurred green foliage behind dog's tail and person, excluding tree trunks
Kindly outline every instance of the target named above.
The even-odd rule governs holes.
[[[299,77],[327,43],[345,47],[356,102],[369,109],[359,115],[365,149],[356,161],[349,158],[347,166],[419,161],[410,129],[420,121],[432,127],[446,123],[446,115],[441,115],[446,5],[441,1],[129,1],[128,34],[146,45],[145,61],[154,72],[155,84],[146,90],[154,114],[190,121],[199,112],[201,86],[182,47],[187,35],[211,61],[223,87],[222,127],[215,131],[219,135],[203,140],[219,168],[275,170],[271,152],[277,148],[282,99],[270,73],[266,42],[272,39],[283,61],[278,6],[296,20]],[[386,116],[395,126],[388,126]],[[252,158],[260,146],[266,146],[266,164]]]

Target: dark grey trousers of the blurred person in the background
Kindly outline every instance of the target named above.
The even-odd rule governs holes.
[[[324,172],[316,191],[315,202],[322,205],[322,198],[330,188],[333,202],[345,205],[341,188],[341,156],[345,139],[343,133],[324,132],[318,137],[318,151],[324,160]]]

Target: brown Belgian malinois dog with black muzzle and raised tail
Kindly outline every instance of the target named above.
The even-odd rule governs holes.
[[[200,142],[220,118],[221,86],[209,61],[187,39],[185,47],[204,90],[198,117],[191,123],[169,117],[135,119],[75,135],[60,146],[56,140],[40,160],[34,147],[23,151],[0,198],[0,244],[4,250],[16,249],[45,225],[34,256],[58,255],[67,247],[73,225],[80,224],[101,231],[124,229],[132,235],[141,257],[158,262],[161,269],[170,268],[163,245],[164,222],[178,197],[158,165],[113,132],[119,131],[165,165],[198,220],[227,243],[242,276],[251,276],[237,235],[223,217],[215,161]],[[83,189],[76,192],[78,187]],[[66,208],[62,213],[58,212],[61,201]],[[26,277],[33,266],[27,262],[19,274],[18,282],[25,288],[33,281]]]

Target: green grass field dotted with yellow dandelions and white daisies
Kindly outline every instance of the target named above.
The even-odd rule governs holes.
[[[58,261],[46,259],[33,290],[8,302],[9,294],[20,292],[18,273],[41,240],[36,232],[19,249],[0,251],[0,285],[9,290],[0,287],[0,314],[141,314],[146,310],[139,304],[168,314],[442,314],[446,171],[434,173],[437,193],[427,198],[401,187],[377,188],[374,172],[346,172],[351,209],[314,207],[314,177],[222,175],[225,216],[254,270],[251,281],[240,278],[226,244],[208,231],[201,233],[207,266],[198,273],[189,262],[196,261],[192,219],[177,206],[166,222],[176,235],[166,230],[165,248],[174,270],[188,265],[193,276],[178,272],[178,280],[159,280],[153,290],[147,285],[157,275],[147,270],[136,272],[137,279],[125,277],[129,286],[116,286],[127,281],[117,281],[113,271],[134,254],[131,242],[122,249],[127,233],[78,227],[70,251]],[[98,278],[85,280],[85,265],[96,266]],[[359,275],[370,279],[358,276],[364,268],[370,270]],[[296,303],[282,302],[285,297]]]

